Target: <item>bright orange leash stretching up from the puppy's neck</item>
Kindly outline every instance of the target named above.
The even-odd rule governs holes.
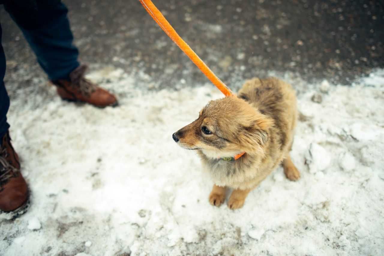
[[[202,61],[199,56],[185,43],[184,40],[176,33],[174,28],[164,18],[159,9],[152,3],[151,0],[139,0],[142,6],[147,10],[149,15],[156,21],[156,23],[166,32],[166,34],[175,42],[177,46],[191,59],[193,63],[207,76],[207,78],[226,96],[233,95],[231,89],[229,89],[208,66]]]

